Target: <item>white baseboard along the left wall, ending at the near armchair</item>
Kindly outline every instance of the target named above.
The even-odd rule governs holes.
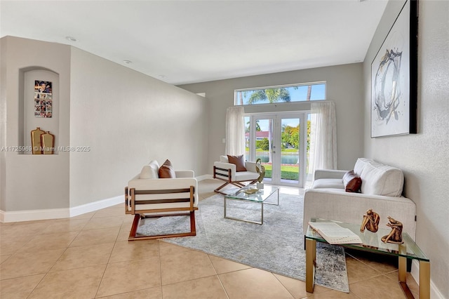
[[[49,208],[44,210],[26,210],[26,211],[0,211],[0,222],[21,222],[32,220],[46,220],[46,219],[59,219],[69,218],[84,213],[90,213],[98,211],[102,208],[108,208],[109,206],[115,206],[116,204],[122,204],[125,202],[124,196],[112,197],[110,199],[102,199],[100,201],[94,201],[89,204],[83,204],[81,206],[74,206],[72,208]],[[123,214],[124,212],[123,208]]]

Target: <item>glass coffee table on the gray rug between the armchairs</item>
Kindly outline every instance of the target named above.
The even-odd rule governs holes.
[[[265,202],[266,199],[268,199],[275,193],[276,193],[276,197],[277,197],[276,203]],[[250,202],[254,202],[255,204],[260,204],[260,221],[245,220],[242,218],[229,217],[226,214],[228,200],[250,201]],[[225,218],[241,220],[241,221],[251,222],[251,223],[257,223],[257,224],[262,225],[264,222],[264,204],[274,204],[276,206],[279,206],[279,188],[264,185],[263,189],[256,189],[255,185],[246,185],[245,187],[242,187],[241,189],[237,190],[236,192],[232,192],[231,194],[225,195],[225,200],[224,200],[223,204],[224,204],[223,210],[225,213],[225,216],[224,216]]]

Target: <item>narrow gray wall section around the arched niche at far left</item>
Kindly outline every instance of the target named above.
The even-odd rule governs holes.
[[[6,36],[1,42],[1,147],[25,145],[23,88],[24,69],[50,69],[59,75],[58,142],[69,144],[70,47]],[[34,84],[34,82],[32,82]],[[21,98],[21,99],[20,99]],[[28,100],[34,101],[34,96]],[[34,112],[32,117],[34,117]],[[64,117],[62,117],[62,115]],[[47,121],[35,125],[46,128]],[[32,155],[1,153],[1,210],[22,211],[64,208],[69,205],[69,154]]]

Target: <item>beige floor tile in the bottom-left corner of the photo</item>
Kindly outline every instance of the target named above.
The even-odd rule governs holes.
[[[0,298],[28,298],[45,274],[0,280]]]

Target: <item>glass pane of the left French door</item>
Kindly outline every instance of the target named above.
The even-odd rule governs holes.
[[[273,120],[272,119],[256,119],[255,120],[255,159],[262,161],[265,168],[264,180],[272,180],[273,166]]]

